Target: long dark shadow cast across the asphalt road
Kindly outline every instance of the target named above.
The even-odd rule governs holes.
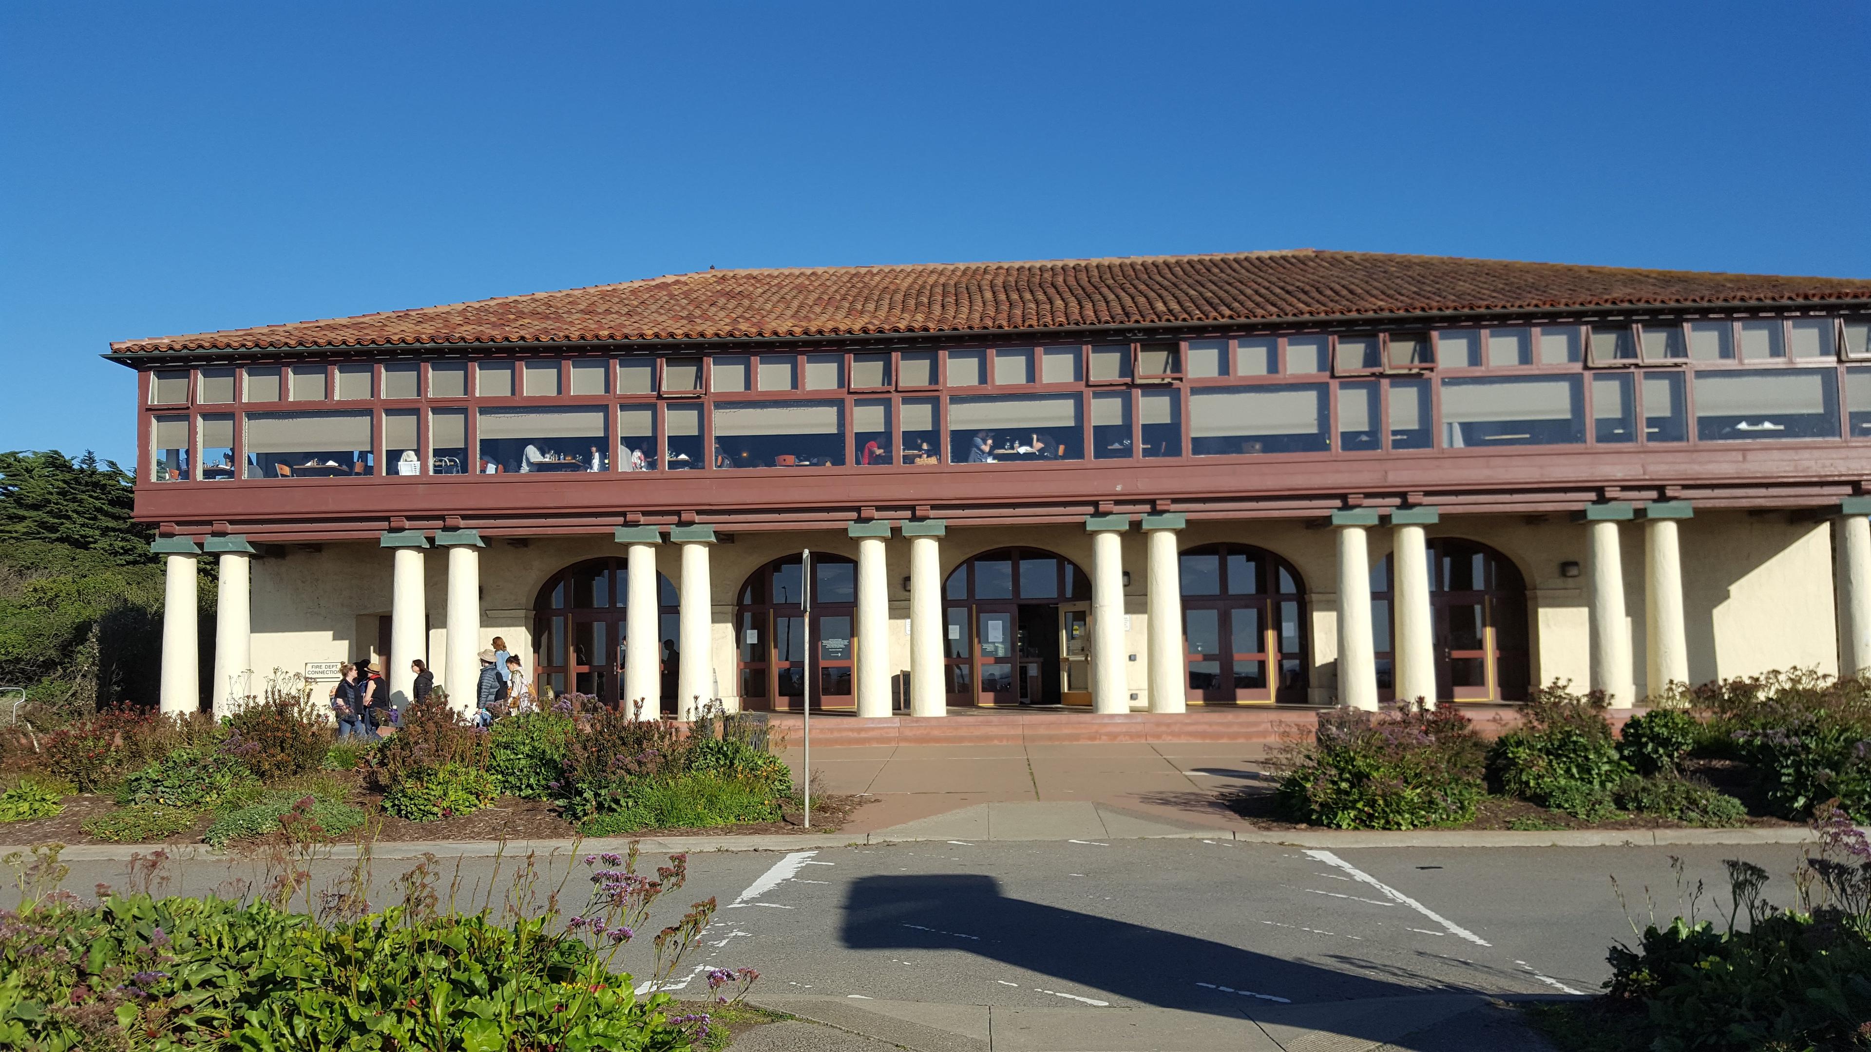
[[[1474,994],[1422,975],[1334,972],[1220,942],[1001,895],[986,874],[866,876],[851,885],[840,938],[851,949],[962,949],[1143,1005],[1259,1015],[1285,1000]],[[1480,981],[1482,977],[1476,975]],[[1491,983],[1499,988],[1497,979]],[[1227,986],[1231,992],[1224,992]],[[1278,998],[1278,1000],[1276,1000]]]

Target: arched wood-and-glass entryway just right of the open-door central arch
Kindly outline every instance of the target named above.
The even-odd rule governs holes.
[[[1306,586],[1284,558],[1252,545],[1181,554],[1188,700],[1306,702]]]

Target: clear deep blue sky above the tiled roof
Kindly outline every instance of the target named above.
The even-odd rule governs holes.
[[[0,449],[112,339],[709,266],[1328,247],[1871,277],[1871,7],[0,6]]]

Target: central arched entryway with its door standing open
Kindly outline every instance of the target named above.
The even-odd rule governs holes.
[[[997,548],[943,590],[950,706],[1091,704],[1091,578],[1042,548]]]

